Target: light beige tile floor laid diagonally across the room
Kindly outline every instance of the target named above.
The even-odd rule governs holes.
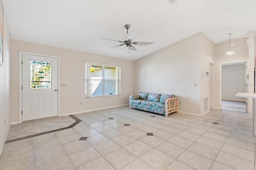
[[[203,117],[181,113],[165,117],[118,107],[74,116],[82,121],[72,128],[6,143],[0,169],[254,170],[255,167],[256,136],[252,135],[248,113],[212,109]],[[7,140],[75,122],[66,116],[12,125]],[[81,137],[88,138],[79,140]]]

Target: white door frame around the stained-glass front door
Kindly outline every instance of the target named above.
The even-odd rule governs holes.
[[[54,55],[19,51],[19,123],[22,123],[22,54],[38,55],[42,57],[52,57],[58,59],[58,117],[60,117],[60,57]]]

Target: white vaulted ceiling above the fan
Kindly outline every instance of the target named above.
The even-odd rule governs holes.
[[[256,30],[255,0],[2,0],[12,39],[136,60],[202,32],[212,42],[247,38]],[[136,41],[126,52],[125,24]]]

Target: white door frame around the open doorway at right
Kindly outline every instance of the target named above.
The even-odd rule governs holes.
[[[240,60],[240,61],[228,61],[228,62],[222,62],[219,65],[219,106],[220,109],[222,109],[222,65],[228,65],[228,64],[235,64],[235,63],[247,63],[248,64],[248,60]],[[248,111],[248,105],[247,107],[247,111]],[[248,113],[248,112],[247,112]]]

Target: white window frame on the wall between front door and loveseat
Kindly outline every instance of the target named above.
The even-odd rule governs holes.
[[[91,87],[87,86],[91,82],[91,65],[101,65],[102,66],[102,95],[92,96],[90,93]],[[116,79],[105,79],[105,67],[116,67]],[[115,80],[116,81],[116,94],[105,95],[105,80]],[[103,63],[94,63],[85,61],[85,97],[94,98],[94,97],[110,97],[121,95],[121,66],[103,64]]]

